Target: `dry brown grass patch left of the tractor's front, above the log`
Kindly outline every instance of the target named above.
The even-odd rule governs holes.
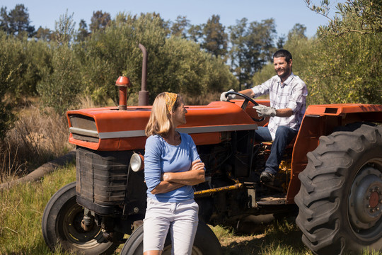
[[[0,183],[28,174],[73,148],[68,142],[66,117],[35,106],[23,108],[17,115],[14,127],[0,142]]]

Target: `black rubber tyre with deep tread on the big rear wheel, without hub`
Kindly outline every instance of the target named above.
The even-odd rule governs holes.
[[[301,188],[295,197],[296,224],[303,232],[303,243],[315,254],[358,252],[367,244],[354,237],[344,213],[349,185],[364,164],[363,157],[374,154],[370,157],[382,159],[378,152],[382,153],[382,126],[361,125],[320,137],[316,150],[307,154],[308,165],[299,174]]]

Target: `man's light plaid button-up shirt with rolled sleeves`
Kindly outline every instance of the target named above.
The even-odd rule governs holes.
[[[275,75],[261,85],[252,88],[254,97],[270,94],[270,106],[275,109],[291,108],[290,117],[271,117],[268,128],[274,140],[276,130],[280,125],[299,130],[306,108],[308,89],[300,77],[291,75],[282,84],[281,79]]]

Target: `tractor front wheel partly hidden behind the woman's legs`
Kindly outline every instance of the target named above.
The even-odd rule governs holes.
[[[143,225],[137,228],[127,239],[127,242],[122,248],[120,255],[141,255],[143,254]],[[166,238],[163,247],[162,255],[171,254],[171,239],[170,235]],[[222,250],[219,240],[216,238],[212,229],[204,222],[199,222],[197,233],[192,246],[192,255],[221,255]]]

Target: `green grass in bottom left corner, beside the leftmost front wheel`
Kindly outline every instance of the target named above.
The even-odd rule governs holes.
[[[59,188],[75,180],[72,163],[39,182],[0,191],[0,254],[52,254],[42,238],[42,212]]]

